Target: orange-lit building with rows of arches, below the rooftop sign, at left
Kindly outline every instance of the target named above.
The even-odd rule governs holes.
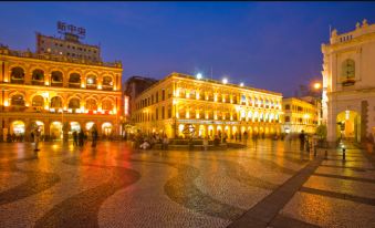
[[[54,138],[62,137],[63,125],[72,132],[96,124],[100,134],[116,133],[122,71],[119,62],[0,46],[1,134],[28,138],[35,124]]]

